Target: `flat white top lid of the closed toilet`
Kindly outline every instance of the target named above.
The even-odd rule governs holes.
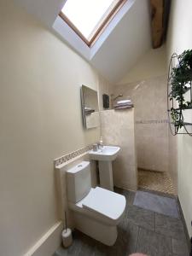
[[[99,212],[102,215],[118,219],[125,210],[125,196],[119,195],[107,189],[96,187],[91,189],[82,201],[82,206],[93,212]]]

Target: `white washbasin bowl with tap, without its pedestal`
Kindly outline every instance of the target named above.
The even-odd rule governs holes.
[[[119,150],[119,147],[103,146],[97,151],[90,150],[89,155],[91,160],[113,161],[116,159]]]

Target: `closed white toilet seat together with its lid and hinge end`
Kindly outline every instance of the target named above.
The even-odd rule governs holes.
[[[111,225],[119,223],[119,219],[125,212],[125,205],[124,195],[100,187],[90,189],[90,193],[78,203],[69,203],[73,211],[81,212]]]

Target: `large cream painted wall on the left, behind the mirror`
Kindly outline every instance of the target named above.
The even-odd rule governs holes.
[[[58,217],[53,160],[98,140],[84,131],[90,64],[12,1],[0,1],[0,255],[17,256]]]

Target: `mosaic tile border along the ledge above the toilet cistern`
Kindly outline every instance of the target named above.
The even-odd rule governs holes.
[[[68,160],[72,160],[73,158],[79,156],[80,154],[84,154],[84,153],[90,151],[92,148],[93,148],[93,145],[91,144],[84,148],[79,148],[78,150],[73,151],[69,154],[62,155],[61,157],[58,157],[54,160],[54,166],[55,167],[60,166],[63,163],[67,162]]]

